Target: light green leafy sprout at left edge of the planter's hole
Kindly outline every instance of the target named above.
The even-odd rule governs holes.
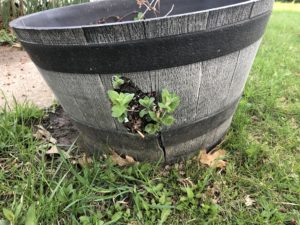
[[[120,123],[123,123],[127,118],[128,105],[132,101],[134,94],[118,93],[113,90],[109,90],[107,93],[113,104],[111,108],[112,117],[117,118]]]

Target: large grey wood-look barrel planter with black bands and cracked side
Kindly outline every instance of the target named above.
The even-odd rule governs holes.
[[[95,24],[139,10],[135,0],[101,0],[21,17],[11,26],[89,151],[171,162],[226,134],[272,5],[161,0],[161,17]],[[129,133],[111,116],[107,91],[115,74],[144,92],[166,88],[179,95],[176,123],[144,139]]]

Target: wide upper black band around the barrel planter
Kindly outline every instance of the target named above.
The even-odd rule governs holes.
[[[243,49],[264,33],[270,12],[212,30],[113,44],[40,45],[22,42],[34,63],[65,73],[112,74],[188,65]]]

